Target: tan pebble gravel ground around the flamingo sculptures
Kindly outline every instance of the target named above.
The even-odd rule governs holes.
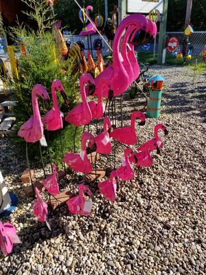
[[[10,215],[22,241],[12,254],[14,267],[21,262],[20,255],[24,257],[18,275],[206,274],[205,75],[194,79],[187,67],[150,70],[165,78],[163,114],[138,126],[137,135],[139,144],[144,143],[161,122],[169,131],[163,137],[164,148],[161,155],[153,154],[151,168],[141,169],[139,180],[119,184],[115,203],[108,203],[91,185],[95,195],[89,217],[71,215],[62,206],[49,212],[52,232],[38,223],[32,199],[23,194],[26,184],[19,181],[26,168],[24,156],[9,139],[0,140],[1,172],[9,190],[19,197],[18,209]],[[124,124],[143,104],[141,95],[135,100],[124,96]],[[121,155],[119,148],[117,166]],[[34,173],[39,177],[42,171]],[[8,257],[0,254],[0,265],[0,274],[7,274]]]

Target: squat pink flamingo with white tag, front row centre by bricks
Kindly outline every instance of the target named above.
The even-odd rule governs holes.
[[[72,197],[66,203],[71,214],[80,214],[83,216],[88,216],[91,213],[92,202],[87,201],[87,198],[84,195],[84,192],[87,195],[92,196],[91,190],[84,186],[84,184],[80,184],[78,186],[79,195],[76,197]]]

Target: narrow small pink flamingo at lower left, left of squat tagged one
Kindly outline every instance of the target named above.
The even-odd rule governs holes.
[[[35,188],[35,192],[36,192],[36,197],[37,199],[35,199],[34,203],[33,203],[33,211],[34,211],[34,216],[37,217],[38,221],[46,221],[47,219],[47,203],[45,203],[45,201],[43,201],[43,199],[41,198],[41,194],[38,190],[38,188]]]

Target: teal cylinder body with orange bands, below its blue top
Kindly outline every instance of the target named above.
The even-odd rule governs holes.
[[[148,118],[159,118],[161,111],[161,95],[162,90],[151,90],[148,100],[146,115]]]

